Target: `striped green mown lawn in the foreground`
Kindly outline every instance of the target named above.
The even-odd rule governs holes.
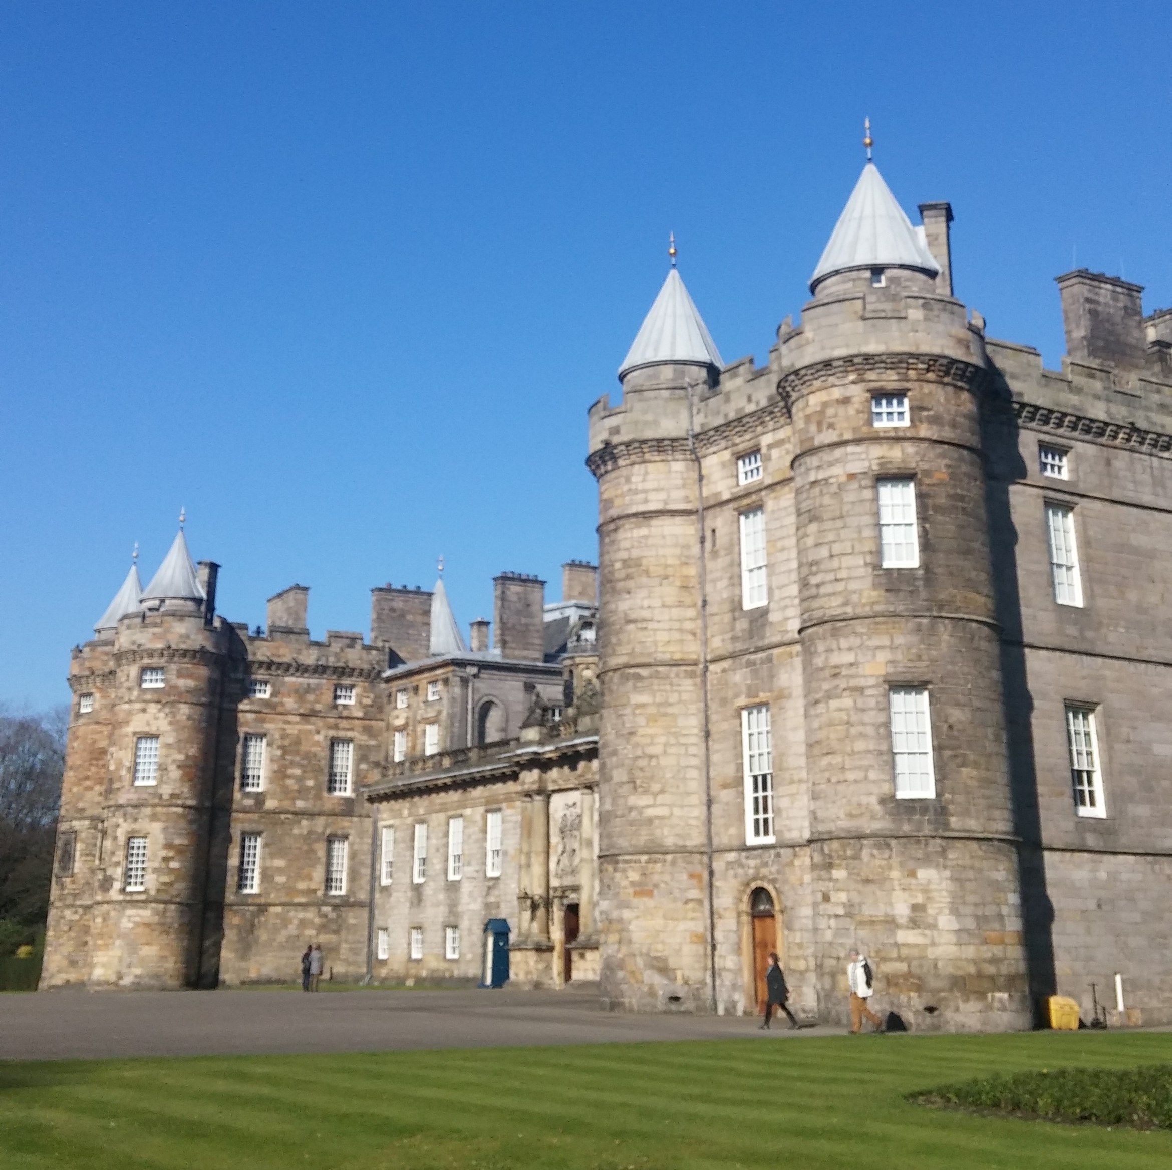
[[[0,1062],[0,1165],[197,1170],[1172,1166],[1172,1132],[902,1094],[1172,1060],[1172,1035],[831,1036],[332,1056]]]

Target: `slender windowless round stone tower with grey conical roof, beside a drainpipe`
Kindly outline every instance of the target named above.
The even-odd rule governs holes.
[[[599,484],[599,944],[604,999],[709,1002],[696,468],[689,387],[721,358],[674,267],[590,414]]]

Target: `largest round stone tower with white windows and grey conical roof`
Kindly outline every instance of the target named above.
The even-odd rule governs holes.
[[[819,999],[846,957],[915,1030],[1028,1027],[980,332],[867,163],[783,335]]]

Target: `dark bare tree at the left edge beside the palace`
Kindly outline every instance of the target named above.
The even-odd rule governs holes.
[[[53,877],[68,713],[0,710],[0,934],[43,926]]]

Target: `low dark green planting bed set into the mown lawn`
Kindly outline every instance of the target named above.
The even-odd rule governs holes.
[[[1172,1064],[1130,1069],[1043,1068],[911,1093],[907,1100],[1047,1121],[1172,1129]]]

